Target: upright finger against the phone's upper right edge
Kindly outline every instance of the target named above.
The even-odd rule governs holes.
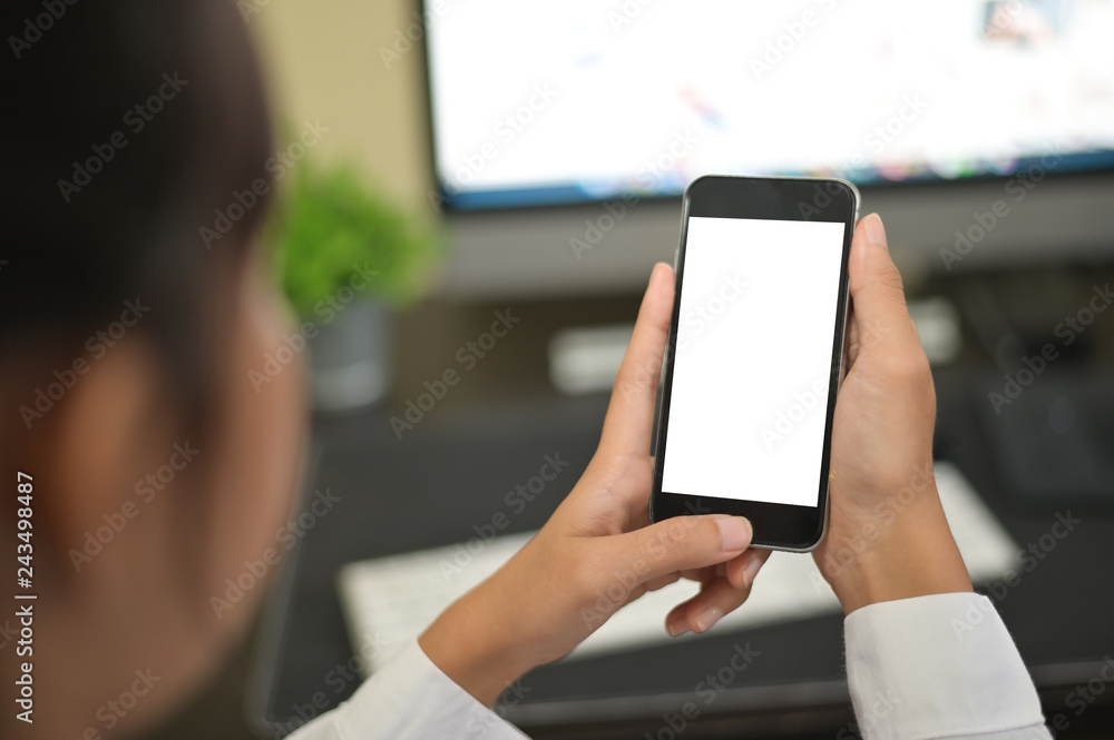
[[[849,273],[857,354],[919,347],[901,274],[890,258],[886,228],[877,214],[864,217],[854,230]]]

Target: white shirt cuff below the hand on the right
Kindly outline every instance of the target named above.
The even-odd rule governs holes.
[[[986,596],[871,604],[847,616],[844,632],[864,740],[1051,740],[1033,681]]]

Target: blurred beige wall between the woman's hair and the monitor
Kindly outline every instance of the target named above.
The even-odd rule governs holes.
[[[380,47],[414,22],[411,0],[240,0],[283,120],[320,119],[329,158],[354,158],[400,204],[429,213],[422,50],[387,69]]]

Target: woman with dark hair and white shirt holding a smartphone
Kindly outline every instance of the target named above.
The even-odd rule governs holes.
[[[2,648],[4,706],[33,723],[11,711],[2,721],[6,737],[134,732],[180,704],[242,637],[261,590],[219,618],[209,595],[270,544],[299,474],[301,371],[266,394],[248,379],[287,320],[257,239],[273,185],[270,116],[231,0],[20,1],[4,16],[0,455],[6,475],[33,481],[38,599],[32,652]],[[203,239],[215,211],[260,179],[257,203],[221,239]],[[860,723],[868,737],[1047,737],[1008,634],[971,593],[931,481],[892,521],[876,515],[930,470],[935,421],[877,216],[856,234],[851,294],[831,526],[815,558],[848,613]],[[745,601],[766,555],[749,549],[745,520],[646,516],[672,300],[658,265],[599,450],[548,524],[299,738],[448,738],[477,722],[487,737],[521,737],[488,708],[598,625],[582,619],[598,591],[629,574],[627,601],[702,581],[668,615],[671,634],[706,631]],[[29,544],[17,539],[26,505],[13,499],[0,522],[6,552]],[[989,615],[958,640],[949,622],[971,608]],[[14,703],[28,701],[14,683],[23,673],[30,714]],[[896,698],[885,716],[873,710],[883,688]]]

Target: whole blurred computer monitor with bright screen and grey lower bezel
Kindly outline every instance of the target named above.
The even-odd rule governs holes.
[[[450,289],[633,279],[672,255],[677,196],[713,172],[850,179],[913,269],[1114,241],[1114,0],[424,13]]]

